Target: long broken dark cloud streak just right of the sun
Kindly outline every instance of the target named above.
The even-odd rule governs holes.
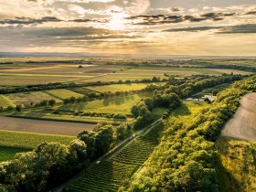
[[[142,26],[154,26],[172,23],[181,23],[184,21],[189,21],[191,23],[202,22],[206,20],[220,21],[229,16],[247,16],[254,15],[255,12],[251,11],[245,14],[239,13],[205,13],[199,16],[176,16],[176,15],[144,15],[144,16],[130,16],[126,19],[132,20],[133,25]]]

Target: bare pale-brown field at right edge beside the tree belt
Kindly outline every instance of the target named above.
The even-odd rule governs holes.
[[[238,139],[256,141],[256,93],[245,95],[240,108],[229,120],[221,134]]]

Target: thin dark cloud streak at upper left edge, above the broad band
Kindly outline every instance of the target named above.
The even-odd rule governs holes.
[[[0,20],[0,24],[9,24],[9,25],[32,25],[32,24],[43,24],[47,22],[60,22],[63,21],[55,16],[44,16],[42,18],[30,18],[30,17],[18,17],[15,19],[4,19]]]

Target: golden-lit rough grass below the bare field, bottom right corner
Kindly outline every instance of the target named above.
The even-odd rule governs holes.
[[[220,191],[256,191],[256,143],[220,137]]]

